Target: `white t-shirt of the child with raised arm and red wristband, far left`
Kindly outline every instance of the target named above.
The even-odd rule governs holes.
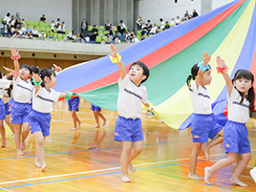
[[[25,81],[18,75],[17,79],[13,78],[13,98],[16,102],[31,103],[32,99],[32,82]]]

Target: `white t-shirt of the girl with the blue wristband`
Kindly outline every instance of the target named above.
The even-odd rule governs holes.
[[[190,92],[190,96],[194,113],[205,115],[212,114],[211,100],[207,89],[203,88],[201,84],[199,84],[197,89],[196,81],[194,80],[191,84],[191,90],[193,90]]]

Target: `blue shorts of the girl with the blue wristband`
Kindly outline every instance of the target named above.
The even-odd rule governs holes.
[[[212,115],[194,114],[191,122],[193,142],[208,142],[222,131],[223,126],[214,122]]]

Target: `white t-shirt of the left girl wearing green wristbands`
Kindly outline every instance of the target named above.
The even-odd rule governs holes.
[[[38,92],[32,93],[32,109],[40,113],[51,113],[53,111],[53,102],[58,100],[59,93],[50,89],[48,92],[44,87],[39,88]]]

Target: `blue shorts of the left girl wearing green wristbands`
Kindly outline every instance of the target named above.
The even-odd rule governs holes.
[[[51,114],[32,110],[29,116],[31,132],[42,132],[44,137],[50,136]]]

